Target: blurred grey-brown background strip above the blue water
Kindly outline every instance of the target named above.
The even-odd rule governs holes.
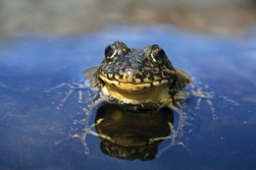
[[[79,35],[120,23],[240,36],[256,24],[256,1],[0,0],[0,23],[2,38]]]

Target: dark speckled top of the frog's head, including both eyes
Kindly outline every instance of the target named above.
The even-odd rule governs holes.
[[[119,41],[109,46],[106,58],[99,66],[99,73],[107,79],[120,83],[150,83],[151,87],[153,82],[168,80],[173,84],[177,80],[175,68],[159,46],[154,44],[144,49],[130,49]],[[111,57],[113,53],[116,54]]]

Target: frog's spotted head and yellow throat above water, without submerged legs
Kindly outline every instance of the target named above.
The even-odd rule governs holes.
[[[192,82],[189,74],[172,66],[164,49],[156,44],[133,49],[123,42],[106,46],[102,63],[85,71],[91,87],[99,90],[98,104],[138,108],[174,108],[179,93]]]

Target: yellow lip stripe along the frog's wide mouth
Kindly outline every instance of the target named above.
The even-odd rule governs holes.
[[[131,82],[119,82],[118,80],[109,80],[106,76],[99,74],[99,78],[103,80],[105,83],[112,84],[116,86],[120,90],[126,90],[131,92],[144,91],[150,87],[157,87],[161,84],[168,83],[168,80],[157,80],[152,82],[144,82],[144,83],[131,83]]]

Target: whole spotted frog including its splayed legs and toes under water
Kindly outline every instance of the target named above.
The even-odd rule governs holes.
[[[145,46],[143,49],[128,47],[124,42],[115,41],[106,46],[105,57],[99,66],[94,66],[84,72],[85,82],[75,82],[72,84],[61,83],[59,87],[68,86],[70,90],[67,96],[61,100],[63,106],[65,100],[78,89],[78,102],[85,100],[86,106],[83,107],[85,119],[75,121],[74,124],[81,124],[84,128],[82,132],[71,133],[71,138],[78,138],[85,148],[85,155],[89,155],[89,148],[86,142],[88,134],[105,139],[106,143],[115,141],[112,136],[97,133],[94,128],[100,129],[104,118],[90,124],[93,109],[102,107],[104,104],[123,107],[130,110],[130,113],[154,113],[161,112],[163,108],[178,113],[176,128],[169,126],[171,135],[161,138],[150,138],[150,142],[158,143],[161,140],[171,138],[170,144],[166,147],[185,144],[179,141],[178,136],[182,135],[185,126],[185,119],[188,117],[184,108],[184,102],[188,99],[188,91],[184,89],[191,85],[191,93],[199,98],[196,107],[202,98],[209,100],[213,97],[212,93],[205,93],[202,86],[197,89],[193,85],[192,76],[171,63],[171,60],[164,52],[164,49],[157,44]],[[88,98],[83,99],[82,90],[89,90]],[[137,111],[141,110],[141,111]],[[126,111],[125,111],[126,112]],[[111,113],[109,113],[111,114]],[[80,131],[78,129],[78,131]],[[139,130],[138,130],[139,131]],[[166,151],[167,149],[164,149]],[[111,155],[111,153],[110,153]],[[158,153],[159,155],[159,153]]]

